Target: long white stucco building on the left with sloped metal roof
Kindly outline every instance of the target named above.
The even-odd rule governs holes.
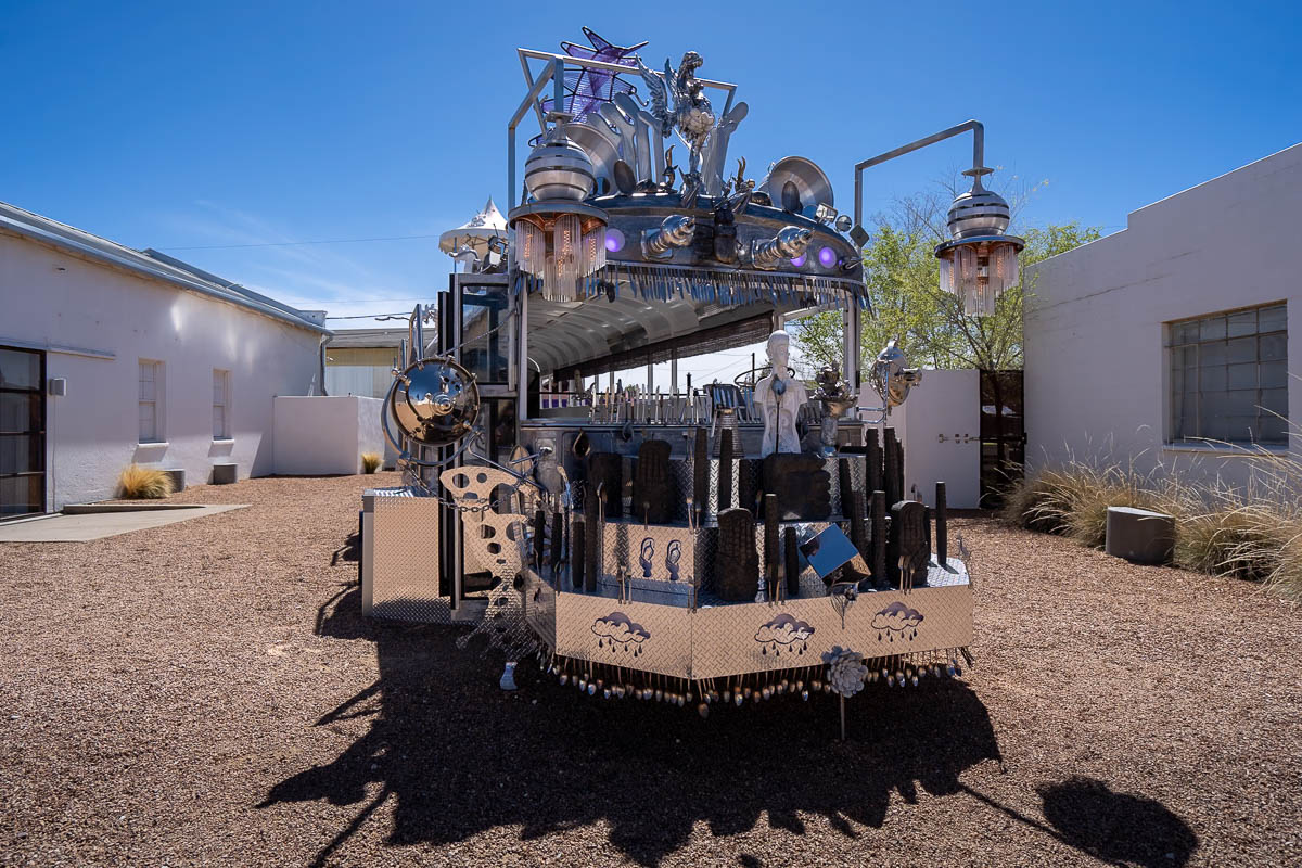
[[[322,392],[323,323],[0,203],[0,518],[112,497],[133,462],[273,472],[273,397]]]

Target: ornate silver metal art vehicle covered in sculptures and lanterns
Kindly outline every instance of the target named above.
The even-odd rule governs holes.
[[[944,485],[930,505],[910,500],[885,427],[921,372],[894,341],[859,370],[861,176],[973,134],[974,187],[936,255],[980,314],[1021,250],[980,186],[983,128],[858,164],[853,217],[840,215],[805,157],[776,160],[762,185],[743,157],[723,177],[750,109],[734,85],[697,77],[700,55],[661,73],[634,53],[646,43],[585,33],[591,49],[519,49],[506,215],[486,208],[484,226],[449,236],[467,269],[413,312],[383,418],[406,484],[366,498],[363,610],[475,622],[508,657],[504,688],[533,657],[587,696],[702,714],[961,674],[973,597],[949,557]],[[539,135],[519,159],[530,113]],[[788,366],[783,328],[809,311],[845,328],[841,366],[812,383]],[[768,368],[736,384],[643,390],[615,376],[759,341]],[[880,407],[858,406],[865,379]]]

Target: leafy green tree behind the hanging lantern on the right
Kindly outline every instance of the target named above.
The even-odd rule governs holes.
[[[1079,223],[1027,228],[1021,255],[1022,281],[1005,292],[991,316],[965,314],[958,298],[940,290],[940,264],[932,252],[948,239],[945,216],[953,198],[941,185],[896,203],[875,220],[872,238],[863,250],[865,284],[872,312],[861,324],[861,368],[867,370],[891,338],[914,364],[934,368],[1022,367],[1022,310],[1034,292],[1026,268],[1099,238],[1099,229]],[[948,195],[945,195],[948,194]],[[1030,191],[1012,197],[1016,212]],[[792,324],[793,340],[811,367],[841,366],[840,314],[825,312]]]

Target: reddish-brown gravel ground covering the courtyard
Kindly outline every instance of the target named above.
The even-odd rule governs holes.
[[[841,744],[832,698],[503,694],[464,629],[365,622],[342,547],[395,481],[0,545],[0,863],[1302,864],[1302,613],[1254,586],[960,518],[976,668]]]

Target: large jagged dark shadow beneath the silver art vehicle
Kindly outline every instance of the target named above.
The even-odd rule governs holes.
[[[368,716],[370,729],[259,806],[358,806],[316,864],[391,798],[395,846],[449,845],[517,824],[531,839],[605,821],[613,846],[655,865],[698,821],[715,835],[762,821],[803,834],[802,813],[853,838],[850,821],[883,824],[893,791],[909,802],[919,789],[953,795],[965,769],[1000,760],[984,705],[960,682],[871,686],[849,705],[842,744],[827,695],[715,708],[702,720],[694,709],[579,696],[527,664],[521,690],[504,694],[496,656],[486,660],[482,644],[458,649],[461,630],[366,622],[357,593],[344,590],[323,606],[318,631],[374,640],[380,678],[318,725]],[[367,799],[372,782],[381,790]]]

